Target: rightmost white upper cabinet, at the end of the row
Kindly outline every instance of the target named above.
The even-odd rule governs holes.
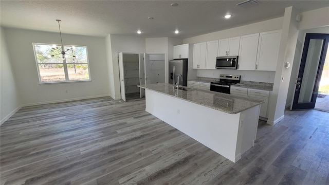
[[[281,30],[262,32],[259,35],[256,70],[277,69]]]

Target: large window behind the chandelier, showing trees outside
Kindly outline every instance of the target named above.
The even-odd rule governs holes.
[[[67,50],[64,59],[63,55],[51,49],[52,47],[52,44],[33,43],[40,83],[90,80],[86,46],[64,45],[64,50]],[[61,46],[55,47],[62,50]]]

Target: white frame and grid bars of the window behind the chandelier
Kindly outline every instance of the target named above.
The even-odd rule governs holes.
[[[88,57],[88,48],[87,48],[87,46],[77,46],[77,45],[74,45],[75,47],[84,47],[84,48],[86,48],[86,59],[87,59],[87,63],[79,63],[79,64],[87,65],[88,66],[88,77],[89,77],[89,79],[85,79],[85,80],[69,80],[67,65],[68,64],[74,64],[74,63],[67,63],[66,60],[62,60],[63,63],[38,63],[38,58],[36,57],[35,45],[49,45],[49,46],[52,46],[53,44],[32,43],[33,52],[34,52],[34,58],[35,58],[35,64],[36,64],[36,70],[38,71],[39,84],[57,84],[57,83],[72,83],[72,82],[88,82],[88,81],[92,81],[92,78],[90,76],[90,65],[89,65],[89,57]],[[62,46],[61,44],[55,44],[55,45]],[[72,47],[72,45],[64,45],[63,44],[63,47]],[[52,65],[59,64],[59,65],[63,65],[65,80],[63,80],[63,81],[43,82],[41,80],[40,69],[39,69],[39,65],[41,65],[41,64],[52,64]]]

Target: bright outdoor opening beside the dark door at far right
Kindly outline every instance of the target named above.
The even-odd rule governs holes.
[[[327,53],[329,53],[328,50]],[[329,54],[326,55],[324,60],[319,93],[314,108],[329,112]]]

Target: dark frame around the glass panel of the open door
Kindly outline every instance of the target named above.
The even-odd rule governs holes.
[[[317,69],[317,75],[315,78],[315,83],[313,84],[313,95],[311,98],[311,101],[308,103],[298,103],[298,99],[300,96],[300,86],[298,86],[298,82],[302,84],[303,78],[299,79],[300,77],[303,76],[304,74],[304,70],[305,70],[305,66],[306,66],[306,58],[307,58],[307,54],[308,54],[308,47],[309,47],[309,42],[311,39],[321,39],[324,40],[323,42],[323,46],[321,49],[321,55],[320,55],[320,59],[319,59],[319,65],[318,65],[318,69]],[[296,85],[294,88],[294,96],[293,96],[293,100],[290,106],[291,110],[301,110],[301,109],[312,109],[315,106],[316,103],[316,98],[318,95],[318,90],[319,90],[319,84],[320,84],[320,78],[322,75],[322,70],[323,70],[323,66],[324,66],[324,60],[325,60],[325,55],[328,54],[326,53],[327,48],[328,48],[328,43],[329,43],[329,34],[327,33],[306,33],[305,34],[305,39],[304,39],[304,45],[303,45],[303,50],[302,50],[302,57],[301,57],[301,62],[300,62],[300,66],[298,69],[298,76],[296,78]]]

